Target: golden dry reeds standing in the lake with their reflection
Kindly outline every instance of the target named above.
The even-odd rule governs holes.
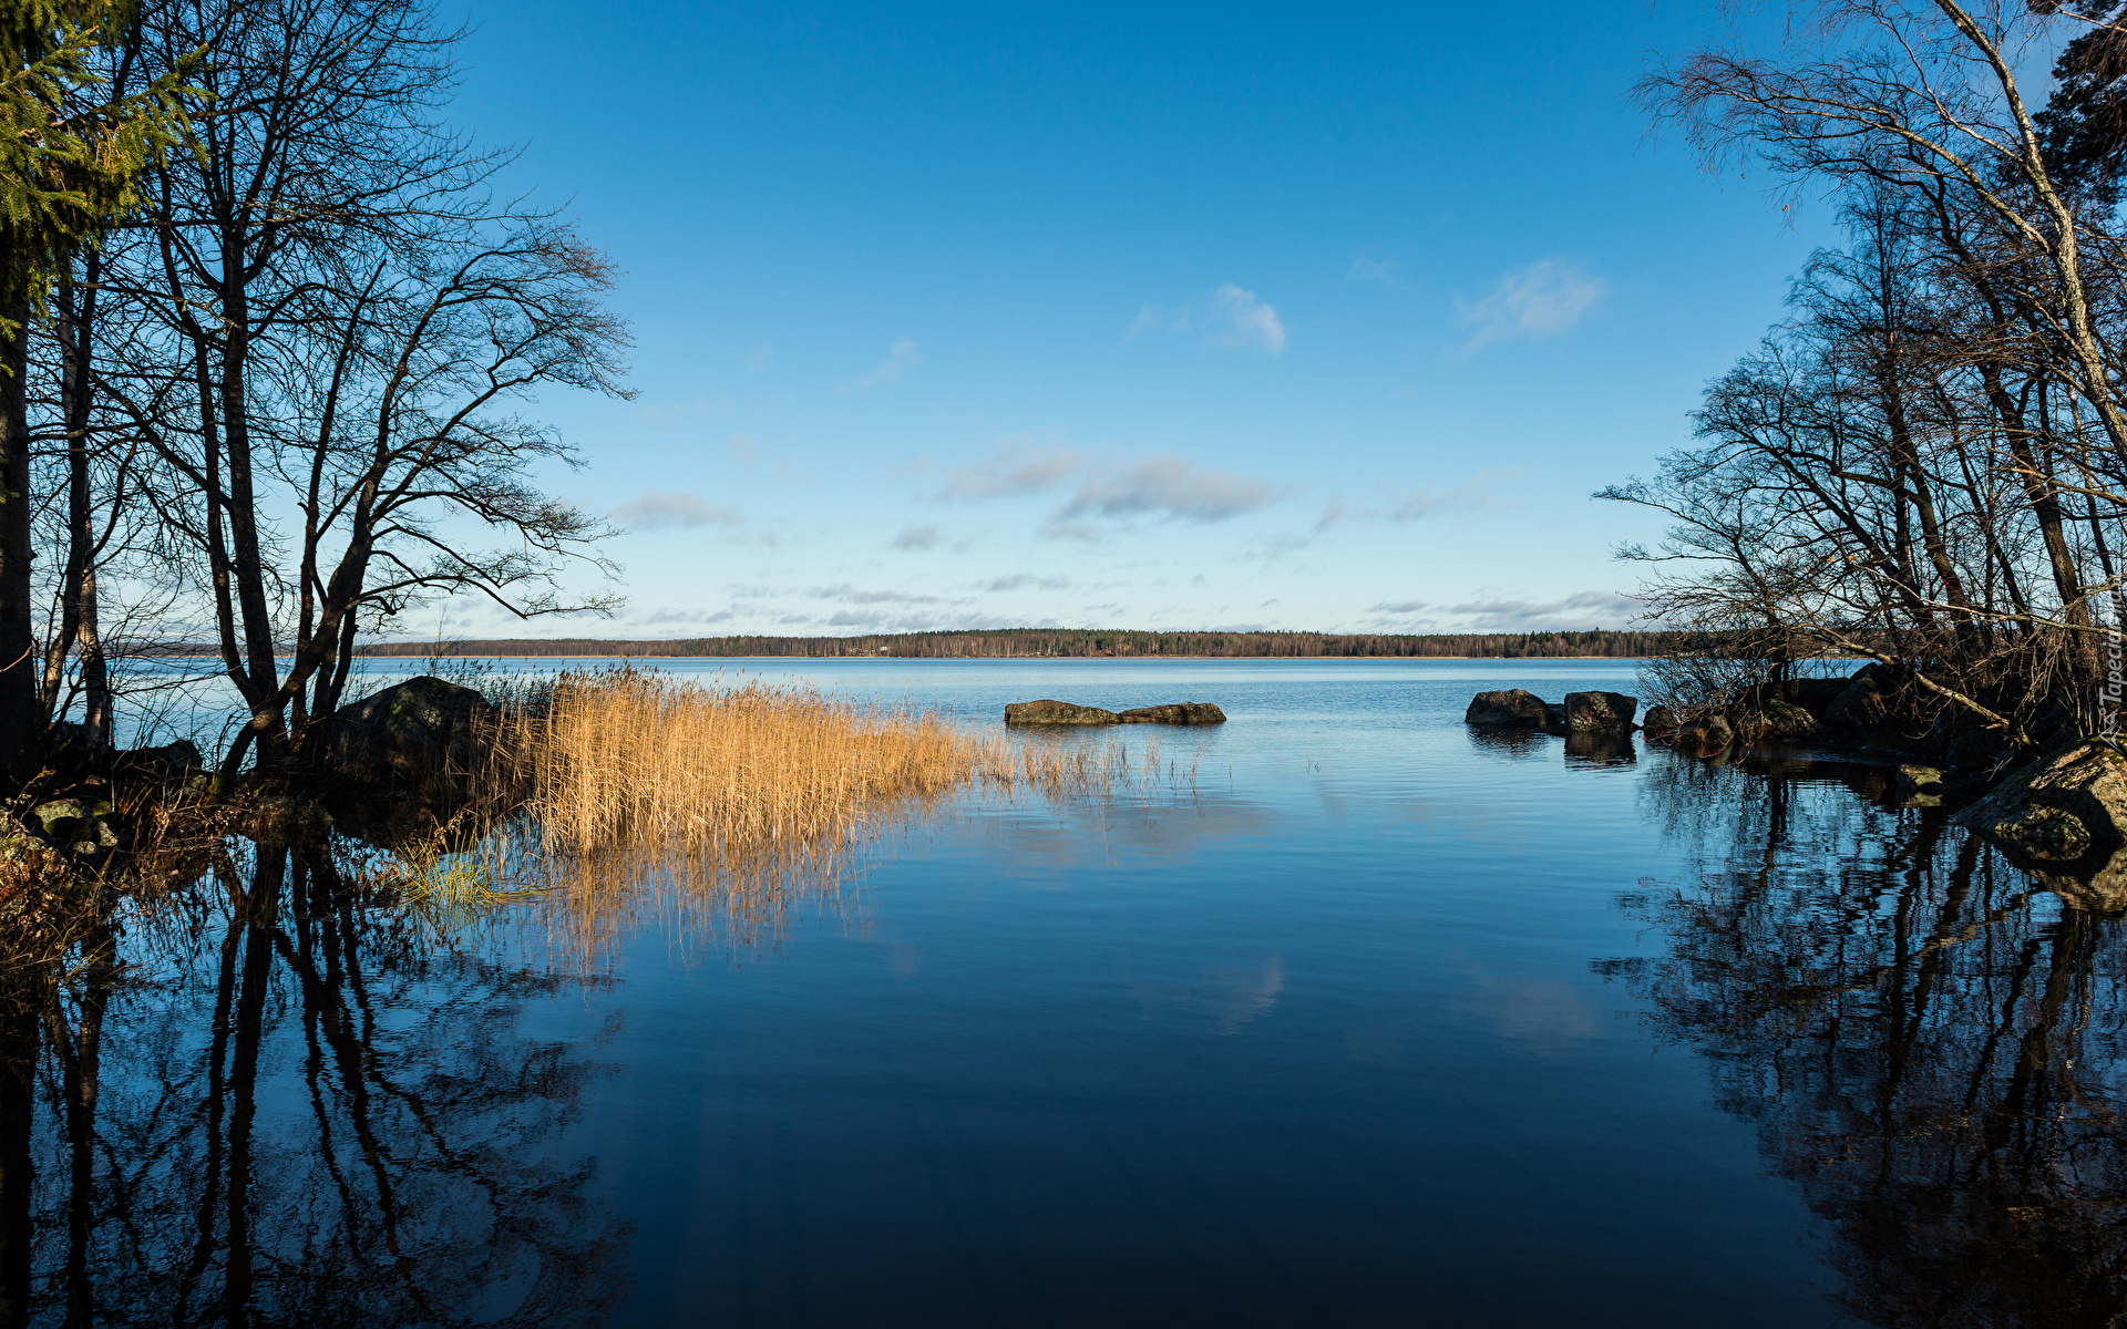
[[[627,666],[508,708],[493,755],[521,817],[487,861],[540,880],[574,951],[644,910],[751,948],[834,897],[878,834],[951,797],[1087,795],[1127,772],[1115,742],[1023,744],[912,704]]]

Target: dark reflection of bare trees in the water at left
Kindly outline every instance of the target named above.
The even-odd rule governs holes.
[[[559,1135],[610,1067],[521,1029],[585,980],[436,946],[321,859],[217,876],[9,980],[0,1323],[600,1320],[627,1231]]]

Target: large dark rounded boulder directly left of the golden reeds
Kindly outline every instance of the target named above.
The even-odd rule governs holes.
[[[487,697],[432,674],[334,710],[321,738],[325,768],[370,789],[434,789],[479,770]]]

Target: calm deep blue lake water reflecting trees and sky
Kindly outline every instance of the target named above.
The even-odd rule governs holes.
[[[842,880],[649,899],[589,951],[259,853],[266,904],[132,927],[0,1106],[38,1323],[2127,1310],[2123,923],[1880,768],[1461,723],[1631,661],[668,668],[1229,723],[1032,736],[1134,774],[929,808]]]

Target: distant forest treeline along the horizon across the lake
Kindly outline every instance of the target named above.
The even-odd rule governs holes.
[[[1002,632],[906,632],[887,636],[717,636],[681,642],[489,640],[376,642],[362,655],[691,655],[691,657],[1614,657],[1674,651],[1699,634],[1680,632],[1495,632],[1495,634],[1336,634],[1336,632],[1093,632],[1019,627]]]

